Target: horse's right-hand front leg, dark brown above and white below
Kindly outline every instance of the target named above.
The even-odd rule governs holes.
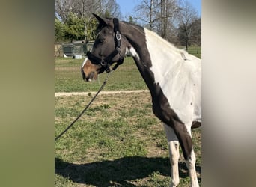
[[[183,151],[184,158],[186,160],[186,167],[189,169],[189,176],[191,179],[192,187],[199,187],[198,177],[195,171],[195,153],[192,148],[191,129],[184,124],[176,122],[174,123],[174,132],[179,139],[180,146]]]

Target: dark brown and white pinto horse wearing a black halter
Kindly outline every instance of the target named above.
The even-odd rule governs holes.
[[[165,129],[171,162],[170,186],[180,183],[180,145],[190,185],[198,187],[191,129],[201,126],[201,59],[177,49],[147,28],[117,18],[94,16],[99,22],[98,34],[82,63],[82,79],[94,81],[115,63],[116,69],[129,52],[152,96],[153,114]]]

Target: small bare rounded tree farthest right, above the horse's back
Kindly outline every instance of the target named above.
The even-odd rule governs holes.
[[[195,28],[195,20],[198,19],[197,15],[198,13],[192,5],[189,4],[189,1],[184,1],[180,10],[178,37],[180,39],[180,43],[186,46],[186,50],[188,50],[191,43],[193,33],[195,34],[193,29]]]

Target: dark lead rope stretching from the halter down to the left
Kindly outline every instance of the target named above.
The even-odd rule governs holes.
[[[57,141],[58,138],[61,138],[61,136],[64,135],[64,133],[67,132],[68,129],[70,129],[70,127],[73,126],[73,124],[76,123],[77,120],[79,120],[79,118],[82,116],[82,114],[85,113],[85,111],[89,108],[89,106],[91,105],[91,103],[94,102],[94,99],[97,97],[97,95],[100,93],[100,91],[103,90],[104,86],[105,86],[106,83],[108,82],[109,76],[112,74],[113,71],[114,71],[114,70],[111,70],[109,73],[107,73],[107,76],[106,76],[106,79],[105,79],[104,82],[103,82],[103,85],[101,85],[99,91],[97,91],[97,93],[94,95],[94,97],[91,99],[91,101],[90,101],[90,102],[88,103],[88,105],[85,107],[85,109],[79,114],[78,117],[76,117],[76,120],[73,120],[73,122],[70,123],[70,125],[67,126],[67,128],[66,128],[63,132],[61,132],[60,135],[58,135],[58,136],[55,138],[54,141]]]

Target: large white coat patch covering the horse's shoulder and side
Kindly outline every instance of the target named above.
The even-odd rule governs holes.
[[[177,49],[153,31],[144,31],[155,83],[183,123],[201,122],[201,59]]]

